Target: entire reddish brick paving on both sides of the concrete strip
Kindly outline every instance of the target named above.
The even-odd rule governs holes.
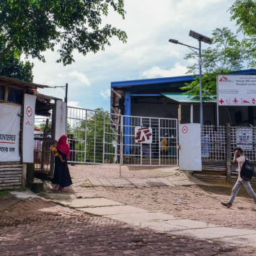
[[[82,181],[86,177],[97,178],[97,175],[101,178],[115,178],[118,177],[116,171],[110,170],[113,172],[112,176],[110,173],[101,176],[99,169],[95,173],[89,171],[88,174],[87,171],[81,173],[71,168],[71,176],[74,181]],[[105,170],[102,169],[102,172]],[[155,173],[154,177],[168,177],[167,169],[164,172],[162,169],[142,170],[138,171],[138,177],[135,177],[152,177],[152,173]],[[136,175],[136,170],[125,175],[129,177],[134,174]],[[87,187],[83,184],[74,182],[66,193],[51,191],[50,194],[64,198],[104,197],[130,206],[161,211],[209,224],[241,229],[256,227],[256,213],[250,211],[253,206],[251,199],[237,198],[234,208],[226,209],[220,206],[220,201],[228,198],[226,195],[208,193],[196,185]],[[182,203],[178,203],[179,200],[182,200]],[[255,255],[255,248],[252,247],[141,229],[120,221],[90,216],[43,198],[17,198],[12,194],[6,194],[0,195],[0,201],[0,255],[3,256]]]

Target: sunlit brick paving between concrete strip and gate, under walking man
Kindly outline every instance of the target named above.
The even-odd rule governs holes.
[[[78,195],[83,191],[79,188],[75,190]],[[251,211],[255,207],[252,199],[238,196],[232,208],[228,209],[221,206],[221,201],[225,202],[229,196],[208,193],[196,186],[130,189],[95,187],[89,191],[89,195],[105,197],[153,212],[172,214],[182,219],[237,229],[256,229],[256,213]],[[182,203],[179,203],[179,200]]]

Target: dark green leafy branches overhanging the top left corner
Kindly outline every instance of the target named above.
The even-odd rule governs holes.
[[[102,25],[112,6],[123,18],[123,0],[5,0],[0,1],[0,31],[6,48],[45,61],[42,52],[58,45],[63,65],[74,62],[73,51],[86,55],[110,45],[110,37],[126,42],[122,30]]]

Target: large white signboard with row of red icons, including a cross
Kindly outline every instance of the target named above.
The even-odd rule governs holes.
[[[219,106],[256,106],[256,76],[217,76]]]

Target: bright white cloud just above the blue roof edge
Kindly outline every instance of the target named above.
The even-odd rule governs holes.
[[[175,63],[175,67],[169,70],[160,69],[159,66],[154,66],[151,69],[141,72],[141,78],[156,78],[168,76],[184,76],[187,72],[187,67],[181,66],[180,63]]]

